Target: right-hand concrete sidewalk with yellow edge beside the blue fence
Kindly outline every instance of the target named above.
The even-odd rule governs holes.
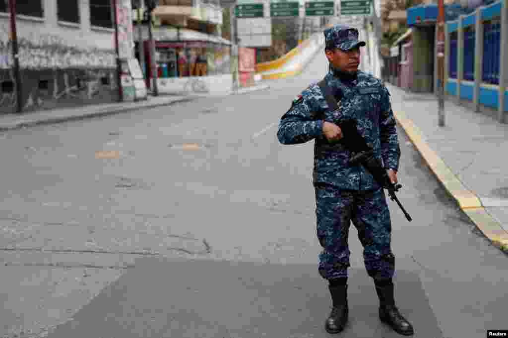
[[[386,84],[395,117],[462,211],[501,250],[508,252],[508,124],[484,113],[444,104],[438,126],[437,98]]]

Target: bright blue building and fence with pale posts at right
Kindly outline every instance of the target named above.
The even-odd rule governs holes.
[[[508,112],[507,2],[484,1],[468,7],[450,4],[445,10],[445,93],[459,104],[495,116],[502,123]],[[436,18],[434,4],[407,10],[414,57],[411,91],[432,92],[437,88]]]

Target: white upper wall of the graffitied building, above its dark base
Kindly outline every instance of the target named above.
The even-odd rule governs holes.
[[[55,0],[43,1],[44,17],[16,18],[22,69],[114,68],[114,29],[91,27],[88,0],[79,0],[80,23],[57,19]],[[0,13],[0,69],[12,64],[10,15]]]

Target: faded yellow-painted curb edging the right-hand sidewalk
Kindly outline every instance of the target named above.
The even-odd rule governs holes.
[[[508,233],[483,207],[480,198],[468,190],[453,174],[450,167],[424,141],[420,129],[403,112],[395,113],[395,119],[402,126],[411,143],[422,155],[430,170],[448,193],[455,199],[467,217],[502,252],[508,253]]]

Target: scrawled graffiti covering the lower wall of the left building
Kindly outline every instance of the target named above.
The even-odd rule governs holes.
[[[0,71],[3,71],[2,82],[14,83],[9,29],[7,23],[0,24]],[[116,67],[116,55],[113,49],[83,47],[79,42],[37,31],[18,36],[18,49],[24,109],[44,107],[51,100],[96,99],[100,91],[114,89],[111,71]],[[42,89],[40,80],[43,81]],[[15,90],[2,90],[0,107],[15,105]]]

